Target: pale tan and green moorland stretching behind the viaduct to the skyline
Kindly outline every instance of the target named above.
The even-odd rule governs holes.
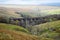
[[[16,12],[19,12],[19,14]],[[60,14],[60,7],[39,5],[0,5],[0,14],[0,16],[9,17],[21,17],[21,14],[30,17],[41,17],[52,14]]]

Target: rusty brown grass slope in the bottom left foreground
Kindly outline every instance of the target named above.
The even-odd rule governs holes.
[[[32,36],[23,32],[0,30],[0,33],[5,34],[5,36],[0,36],[0,40],[39,40],[37,36]]]

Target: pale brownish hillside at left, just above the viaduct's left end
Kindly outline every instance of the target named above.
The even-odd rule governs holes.
[[[15,18],[21,17],[20,15],[16,14],[14,10],[5,7],[0,7],[0,17],[1,16],[15,17]]]

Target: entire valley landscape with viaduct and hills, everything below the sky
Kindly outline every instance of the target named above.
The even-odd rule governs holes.
[[[60,7],[0,5],[0,40],[60,40]]]

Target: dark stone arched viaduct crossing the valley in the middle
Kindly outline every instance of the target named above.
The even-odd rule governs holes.
[[[18,25],[23,26],[23,27],[30,27],[33,25],[45,23],[46,21],[42,17],[34,17],[34,18],[13,18],[11,19],[13,21],[18,20],[19,23]]]

